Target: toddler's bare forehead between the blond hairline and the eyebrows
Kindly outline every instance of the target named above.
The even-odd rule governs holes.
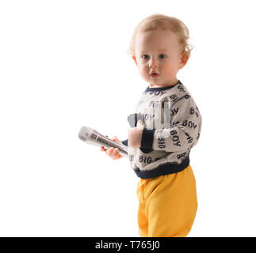
[[[177,50],[178,37],[170,30],[139,32],[135,41],[136,51],[168,51]]]

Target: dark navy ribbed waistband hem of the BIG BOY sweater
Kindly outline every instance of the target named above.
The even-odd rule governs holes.
[[[141,171],[139,168],[134,169],[136,175],[141,179],[151,179],[156,176],[168,175],[183,171],[189,166],[189,157],[186,157],[181,164],[165,163],[160,164],[159,167],[153,168],[151,171]]]

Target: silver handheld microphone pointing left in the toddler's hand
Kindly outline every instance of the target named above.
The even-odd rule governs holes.
[[[80,138],[83,142],[86,142],[90,145],[103,145],[105,148],[117,148],[119,149],[119,153],[124,156],[128,157],[127,153],[127,146],[120,143],[120,142],[114,142],[108,137],[100,134],[97,132],[97,130],[94,130],[93,128],[90,128],[88,126],[82,126],[82,128],[79,131],[78,138]]]

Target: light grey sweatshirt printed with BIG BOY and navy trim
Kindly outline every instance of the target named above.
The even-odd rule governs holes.
[[[181,81],[148,86],[136,105],[137,118],[143,119],[140,147],[132,148],[128,140],[122,143],[128,146],[128,159],[139,178],[177,173],[189,166],[190,150],[201,134],[201,114]]]

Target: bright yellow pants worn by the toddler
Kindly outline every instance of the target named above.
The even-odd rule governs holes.
[[[183,171],[139,179],[139,236],[183,237],[197,213],[197,189],[189,165]]]

